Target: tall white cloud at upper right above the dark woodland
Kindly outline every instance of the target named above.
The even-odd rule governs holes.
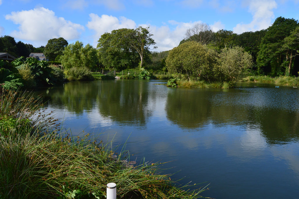
[[[277,3],[274,0],[253,0],[249,3],[249,11],[252,13],[252,21],[249,24],[237,24],[233,28],[235,33],[243,33],[246,31],[257,31],[268,28],[274,18],[273,9],[277,8]]]

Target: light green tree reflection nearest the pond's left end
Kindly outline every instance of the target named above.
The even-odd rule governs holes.
[[[56,108],[66,109],[69,112],[82,114],[94,108],[98,92],[97,82],[69,82],[55,87],[45,93],[45,100],[50,100]]]

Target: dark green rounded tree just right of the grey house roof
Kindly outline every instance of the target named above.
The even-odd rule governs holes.
[[[45,46],[44,54],[50,61],[54,61],[57,56],[62,55],[62,51],[67,45],[68,42],[62,37],[50,39]]]

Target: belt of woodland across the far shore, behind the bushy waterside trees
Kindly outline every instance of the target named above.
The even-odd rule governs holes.
[[[252,56],[252,75],[298,76],[299,72],[299,23],[295,19],[278,17],[266,30],[236,34],[233,31],[213,32],[207,24],[196,24],[186,31],[178,44],[198,42],[217,52],[223,49],[242,47]],[[51,61],[62,63],[65,68],[87,67],[99,69],[146,68],[152,71],[167,71],[165,60],[169,51],[153,51],[155,42],[149,28],[118,29],[105,33],[98,40],[97,48],[77,41],[68,44],[63,38],[54,38],[46,46],[34,48],[30,44],[16,42],[13,37],[0,37],[0,52],[15,57],[28,57],[30,52],[43,52]],[[152,52],[153,51],[153,52]]]

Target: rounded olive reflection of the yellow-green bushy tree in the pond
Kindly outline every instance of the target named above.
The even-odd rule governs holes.
[[[205,92],[171,89],[167,94],[167,119],[182,128],[197,128],[207,121],[211,105]]]

